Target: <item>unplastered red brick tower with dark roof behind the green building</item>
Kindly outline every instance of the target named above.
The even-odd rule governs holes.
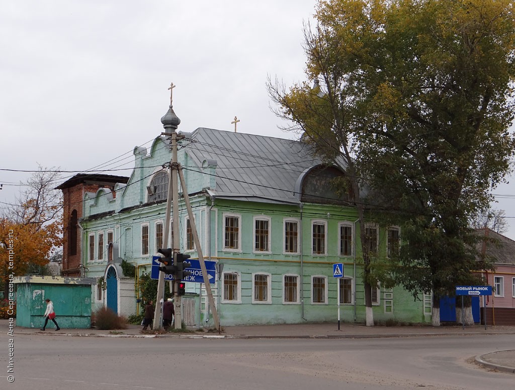
[[[63,192],[63,276],[81,276],[82,232],[84,194],[109,188],[114,194],[116,183],[127,183],[125,176],[78,174],[56,187]]]

